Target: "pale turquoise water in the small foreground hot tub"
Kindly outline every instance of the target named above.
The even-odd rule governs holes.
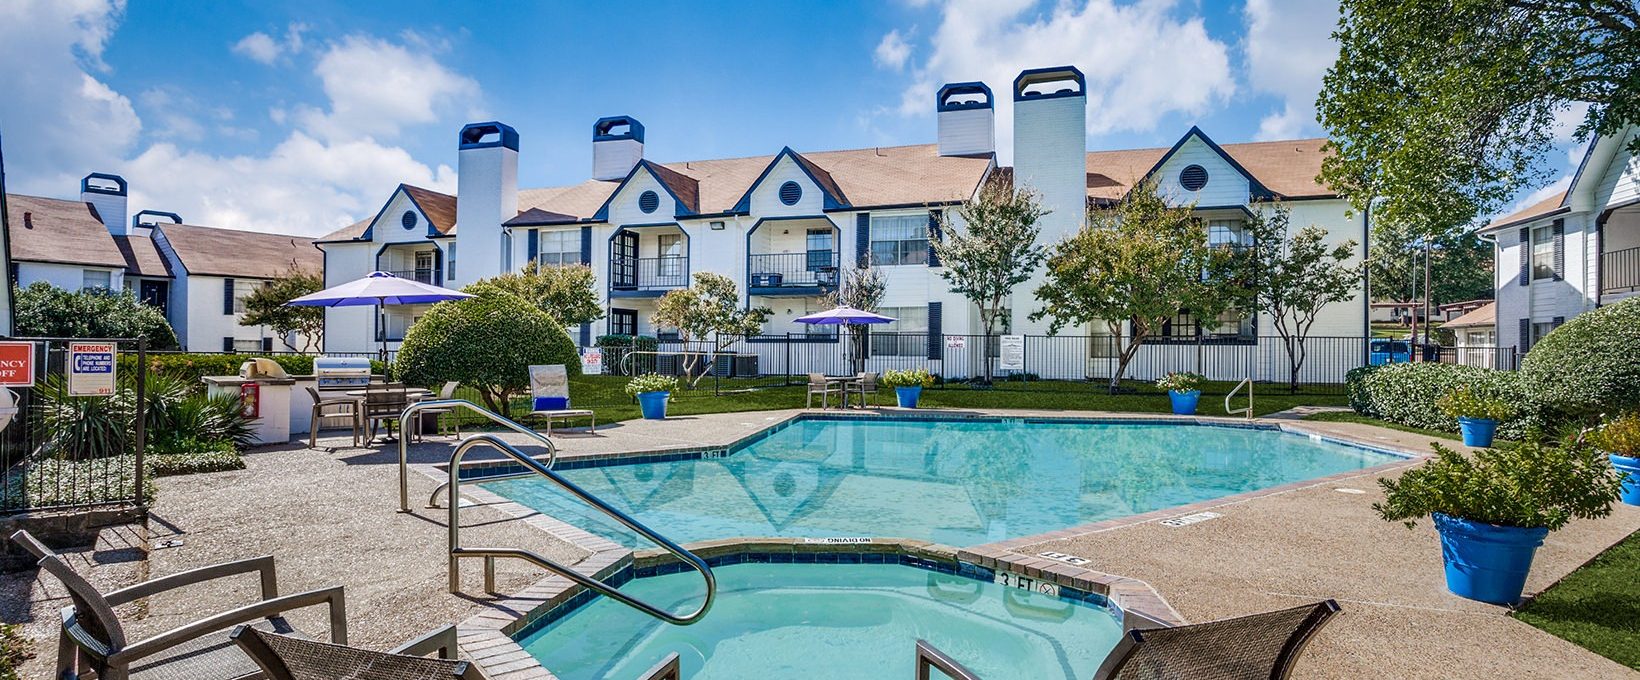
[[[564,680],[635,678],[671,652],[690,680],[913,678],[917,639],[986,680],[1081,680],[1122,636],[1104,610],[915,567],[740,564],[713,572],[717,601],[694,626],[597,598],[520,644]],[[638,578],[622,590],[687,611],[700,601],[700,577]]]

